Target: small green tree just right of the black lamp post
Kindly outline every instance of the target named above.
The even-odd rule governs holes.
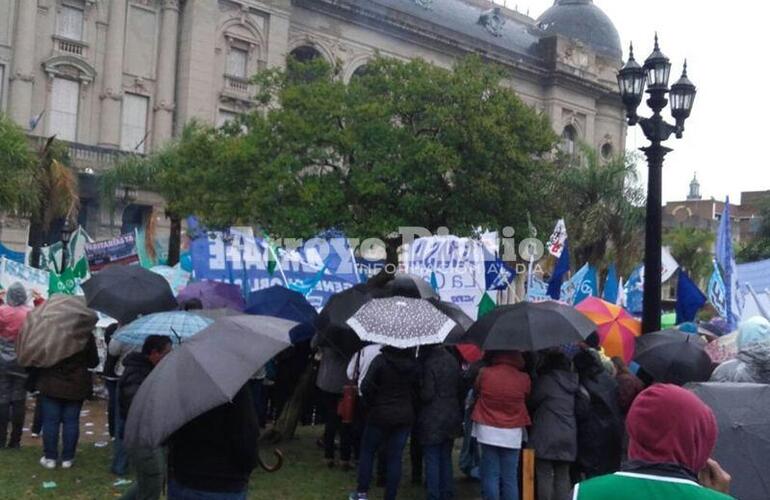
[[[704,284],[713,269],[714,233],[705,229],[677,228],[663,235],[671,256],[696,283]]]

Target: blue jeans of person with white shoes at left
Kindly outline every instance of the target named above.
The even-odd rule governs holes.
[[[62,434],[62,461],[73,460],[80,438],[80,408],[82,401],[40,396],[43,412],[43,452],[45,458],[59,458],[59,431]]]

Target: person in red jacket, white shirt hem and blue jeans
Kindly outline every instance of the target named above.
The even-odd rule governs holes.
[[[481,445],[481,490],[485,500],[518,500],[519,455],[524,428],[532,422],[526,399],[532,382],[518,351],[487,353],[491,362],[476,378],[471,414]]]

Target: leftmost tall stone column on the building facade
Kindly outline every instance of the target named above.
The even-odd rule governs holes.
[[[35,84],[37,2],[17,2],[16,10],[8,111],[11,118],[27,130],[29,120],[32,118],[32,90]]]

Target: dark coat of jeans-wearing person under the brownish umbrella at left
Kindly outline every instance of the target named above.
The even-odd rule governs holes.
[[[86,347],[50,368],[38,372],[37,389],[49,398],[83,401],[93,392],[93,380],[89,368],[99,365],[96,340],[88,339]]]

